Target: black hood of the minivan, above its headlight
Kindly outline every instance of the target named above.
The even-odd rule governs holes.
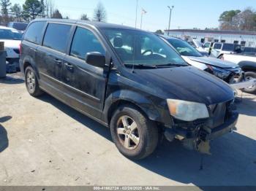
[[[206,105],[233,100],[233,89],[226,82],[193,66],[170,69],[136,69],[142,83],[154,95],[194,101]],[[148,89],[148,87],[147,87]]]

